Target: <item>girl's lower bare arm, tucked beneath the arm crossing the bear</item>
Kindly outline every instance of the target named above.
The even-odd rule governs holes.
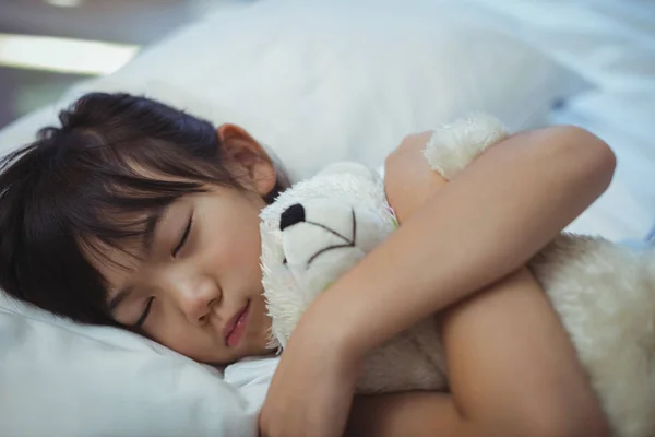
[[[346,436],[608,436],[575,351],[527,270],[442,321],[451,394],[357,399]]]

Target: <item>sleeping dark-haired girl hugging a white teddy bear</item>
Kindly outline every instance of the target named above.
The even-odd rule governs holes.
[[[281,163],[240,127],[128,94],[85,95],[60,121],[2,163],[0,286],[202,363],[273,353],[259,212],[289,185]],[[608,187],[611,151],[574,127],[522,132],[446,184],[429,135],[388,157],[400,229],[303,315],[261,435],[607,436],[524,265]],[[430,314],[449,393],[354,397],[364,356]]]

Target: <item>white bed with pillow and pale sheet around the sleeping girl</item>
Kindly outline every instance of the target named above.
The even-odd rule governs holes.
[[[379,165],[404,134],[475,108],[513,130],[575,123],[605,139],[618,156],[615,180],[570,231],[643,240],[655,223],[650,3],[248,2],[0,131],[0,153],[91,90],[144,93],[241,123],[296,179],[338,160]],[[217,369],[0,292],[0,436],[257,436],[275,365]]]

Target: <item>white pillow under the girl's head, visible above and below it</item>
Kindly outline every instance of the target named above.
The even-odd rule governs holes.
[[[219,11],[5,129],[0,152],[84,91],[129,91],[240,123],[308,176],[340,160],[380,164],[405,134],[471,109],[540,125],[583,86],[471,8],[271,0]],[[275,366],[262,363],[229,368],[226,383],[145,339],[0,295],[0,435],[255,436]]]

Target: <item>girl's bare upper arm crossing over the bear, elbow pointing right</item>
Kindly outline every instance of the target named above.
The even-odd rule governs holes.
[[[525,264],[607,188],[615,166],[596,137],[550,128],[497,144],[444,185],[424,145],[409,141],[388,162],[401,228],[298,323],[260,416],[264,436],[341,434],[370,350]],[[427,200],[401,205],[417,192]]]

